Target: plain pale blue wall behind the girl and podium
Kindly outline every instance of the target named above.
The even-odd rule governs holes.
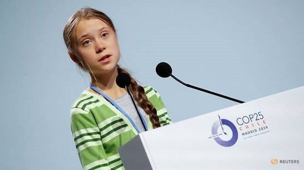
[[[81,170],[70,105],[89,78],[70,60],[62,31],[86,6],[112,18],[120,64],[161,93],[174,122],[237,103],[158,77],[159,62],[244,101],[304,85],[303,0],[1,1],[0,169]]]

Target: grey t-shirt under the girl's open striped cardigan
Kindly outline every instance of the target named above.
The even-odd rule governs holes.
[[[134,105],[128,93],[125,93],[123,96],[115,99],[114,102],[125,111],[125,113],[132,119],[132,121],[136,124],[139,130],[141,132],[144,132],[144,127],[141,122],[141,119],[139,118],[136,112],[136,108],[134,108]],[[138,106],[136,101],[135,103],[139,111],[142,113],[146,125],[148,125],[149,116],[144,112],[143,108]]]

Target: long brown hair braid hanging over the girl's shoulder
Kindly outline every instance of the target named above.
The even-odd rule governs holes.
[[[126,73],[130,76],[130,74],[123,68],[121,68],[119,65],[117,65],[117,71],[118,73]],[[152,105],[152,103],[148,100],[148,97],[144,93],[144,89],[142,86],[138,85],[136,80],[131,77],[131,84],[129,87],[131,87],[129,90],[133,94],[134,99],[136,100],[137,104],[143,108],[144,112],[149,116],[150,121],[153,124],[153,128],[160,127],[160,120],[157,116],[156,109]]]

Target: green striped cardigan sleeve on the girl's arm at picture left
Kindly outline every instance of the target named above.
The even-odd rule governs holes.
[[[81,108],[71,108],[71,127],[83,170],[111,170],[93,115]]]

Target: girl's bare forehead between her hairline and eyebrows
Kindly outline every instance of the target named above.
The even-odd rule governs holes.
[[[81,19],[75,28],[76,38],[83,34],[98,31],[101,28],[110,28],[106,22],[98,18]]]

